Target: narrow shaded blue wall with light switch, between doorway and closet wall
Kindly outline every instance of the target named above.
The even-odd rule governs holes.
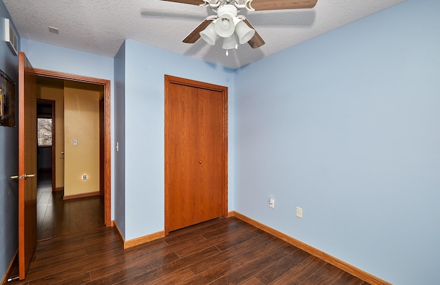
[[[125,238],[125,43],[115,56],[115,144],[118,151],[112,159],[115,179],[115,223]]]

